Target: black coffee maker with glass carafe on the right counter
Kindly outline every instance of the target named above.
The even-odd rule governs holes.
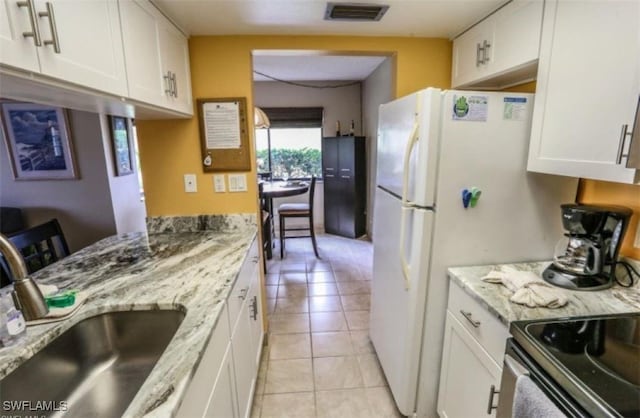
[[[620,245],[633,212],[622,206],[565,204],[561,208],[566,232],[542,277],[574,290],[611,287]]]

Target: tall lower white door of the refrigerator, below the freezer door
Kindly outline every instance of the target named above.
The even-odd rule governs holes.
[[[409,213],[401,243],[402,210]],[[404,415],[411,415],[416,405],[433,217],[430,210],[402,209],[399,199],[376,189],[369,334],[396,405]],[[408,288],[401,252],[409,260]]]

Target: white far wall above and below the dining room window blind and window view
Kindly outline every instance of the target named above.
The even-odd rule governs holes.
[[[304,84],[315,86],[328,86],[348,83],[345,81],[317,81]],[[360,84],[340,88],[305,88],[292,86],[275,81],[255,82],[253,84],[254,102],[258,107],[312,107],[324,108],[323,136],[334,136],[336,120],[340,121],[342,132],[348,133],[351,120],[355,122],[355,133],[361,132],[361,91]],[[273,200],[274,208],[285,202],[306,202],[307,194],[279,198]],[[315,201],[313,205],[314,224],[318,231],[324,230],[324,185],[322,181],[316,183]],[[304,222],[298,219],[289,221],[291,225],[296,222]],[[289,223],[288,223],[289,224]],[[276,216],[276,231],[278,230],[278,219]]]

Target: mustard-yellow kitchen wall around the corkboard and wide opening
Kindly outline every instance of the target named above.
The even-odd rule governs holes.
[[[395,93],[449,88],[451,42],[429,38],[338,36],[201,36],[189,40],[194,103],[198,98],[246,97],[253,109],[253,50],[326,50],[395,56]],[[201,164],[197,111],[188,120],[137,121],[148,216],[252,213],[257,210],[253,120],[247,193],[213,193],[212,174]],[[185,193],[183,175],[197,175],[198,193]]]

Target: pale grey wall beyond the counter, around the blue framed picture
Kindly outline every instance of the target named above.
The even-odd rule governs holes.
[[[27,226],[57,218],[71,251],[116,233],[144,230],[144,210],[130,204],[139,199],[137,176],[112,178],[106,117],[75,110],[68,116],[79,178],[16,181],[2,145],[0,205],[22,208]]]

